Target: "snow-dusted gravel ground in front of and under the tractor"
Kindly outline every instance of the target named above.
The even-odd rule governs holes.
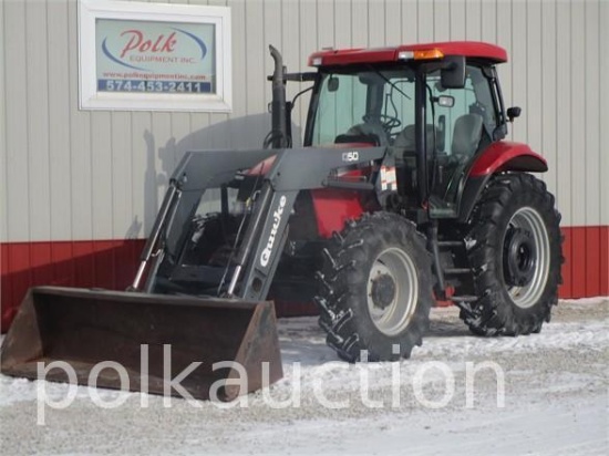
[[[336,362],[314,318],[280,320],[286,375],[266,393],[285,401],[300,383],[298,407],[272,408],[258,392],[246,396],[247,407],[219,408],[209,402],[195,407],[177,398],[164,407],[163,398],[145,396],[143,408],[141,394],[104,390],[99,392],[103,401],[125,400],[120,407],[105,410],[93,403],[89,388],[79,386],[68,408],[42,408],[45,425],[41,426],[37,386],[59,401],[68,385],[0,375],[0,450],[6,455],[609,454],[607,298],[561,301],[540,334],[519,338],[472,336],[457,315],[454,308],[434,309],[432,328],[411,360],[359,365]],[[293,371],[297,362],[300,373]],[[468,390],[472,366],[479,371]],[[503,403],[492,366],[505,377]],[[370,380],[364,398],[362,374]],[[398,376],[394,386],[392,377]],[[322,405],[324,400],[348,406],[329,408]],[[381,406],[371,408],[365,400]]]

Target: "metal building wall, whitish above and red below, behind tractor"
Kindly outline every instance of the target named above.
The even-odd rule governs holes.
[[[0,0],[4,329],[31,284],[126,286],[180,154],[259,147],[268,44],[290,71],[321,48],[482,40],[506,48],[512,136],[549,163],[565,234],[562,297],[609,294],[609,1],[211,0],[231,14],[227,114],[79,110],[76,0]],[[296,93],[298,84],[291,86]],[[303,126],[307,101],[295,115]]]

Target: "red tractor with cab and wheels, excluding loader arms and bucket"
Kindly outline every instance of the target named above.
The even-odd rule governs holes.
[[[300,249],[311,265],[321,252],[316,302],[341,357],[355,361],[361,350],[371,360],[407,357],[434,298],[457,304],[478,335],[539,332],[549,321],[560,215],[527,174],[546,172],[545,159],[504,141],[520,113],[502,99],[495,65],[506,60],[502,48],[477,42],[311,55],[318,72],[307,75],[314,85],[304,145],[338,148],[342,166],[318,164],[323,153],[298,165],[328,175],[297,199],[289,225],[316,226],[288,236],[295,259],[286,263],[297,270],[306,260],[296,255],[302,238],[311,239]],[[276,282],[291,271],[282,266]]]

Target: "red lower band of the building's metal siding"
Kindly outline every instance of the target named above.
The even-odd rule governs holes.
[[[561,298],[609,296],[609,226],[567,227]],[[1,329],[28,288],[40,284],[125,289],[144,240],[0,243]],[[278,303],[280,315],[311,314],[309,303]]]

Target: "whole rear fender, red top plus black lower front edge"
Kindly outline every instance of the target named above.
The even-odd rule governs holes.
[[[491,144],[474,162],[460,196],[458,220],[466,222],[484,187],[497,173],[548,170],[546,159],[526,144],[497,141]]]

